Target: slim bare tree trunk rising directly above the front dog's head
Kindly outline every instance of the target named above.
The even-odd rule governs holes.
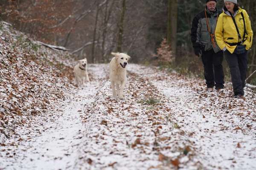
[[[118,33],[118,41],[117,41],[117,51],[121,52],[122,51],[122,37],[124,33],[124,19],[125,19],[125,6],[126,0],[122,0],[122,12],[121,12],[121,17],[120,17],[120,22],[119,22],[119,33]]]

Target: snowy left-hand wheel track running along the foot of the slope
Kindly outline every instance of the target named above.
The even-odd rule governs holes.
[[[97,73],[92,82],[65,94],[65,101],[56,102],[51,111],[35,116],[33,122],[19,131],[20,138],[11,138],[0,148],[0,169],[7,170],[73,170],[79,161],[84,135],[80,114],[90,107],[97,89],[105,78],[104,69],[94,65]],[[105,65],[104,65],[105,67]],[[94,71],[91,71],[94,72]],[[35,133],[31,133],[35,132]],[[28,134],[29,133],[29,134]]]

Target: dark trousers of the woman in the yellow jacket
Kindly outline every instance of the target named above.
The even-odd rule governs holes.
[[[243,54],[231,54],[226,50],[224,54],[230,68],[234,94],[235,96],[244,95],[247,71],[247,51]]]

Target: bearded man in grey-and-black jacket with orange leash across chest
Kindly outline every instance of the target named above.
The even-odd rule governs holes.
[[[207,88],[224,88],[222,68],[223,51],[215,40],[215,28],[221,11],[216,8],[217,0],[206,0],[204,11],[197,14],[192,22],[191,41],[195,55],[202,58]]]

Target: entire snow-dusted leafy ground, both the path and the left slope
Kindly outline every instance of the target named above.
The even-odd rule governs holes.
[[[228,83],[207,91],[203,80],[129,64],[125,99],[113,99],[108,65],[89,65],[92,81],[76,88],[68,53],[1,24],[0,169],[256,168],[250,89],[234,99]]]

